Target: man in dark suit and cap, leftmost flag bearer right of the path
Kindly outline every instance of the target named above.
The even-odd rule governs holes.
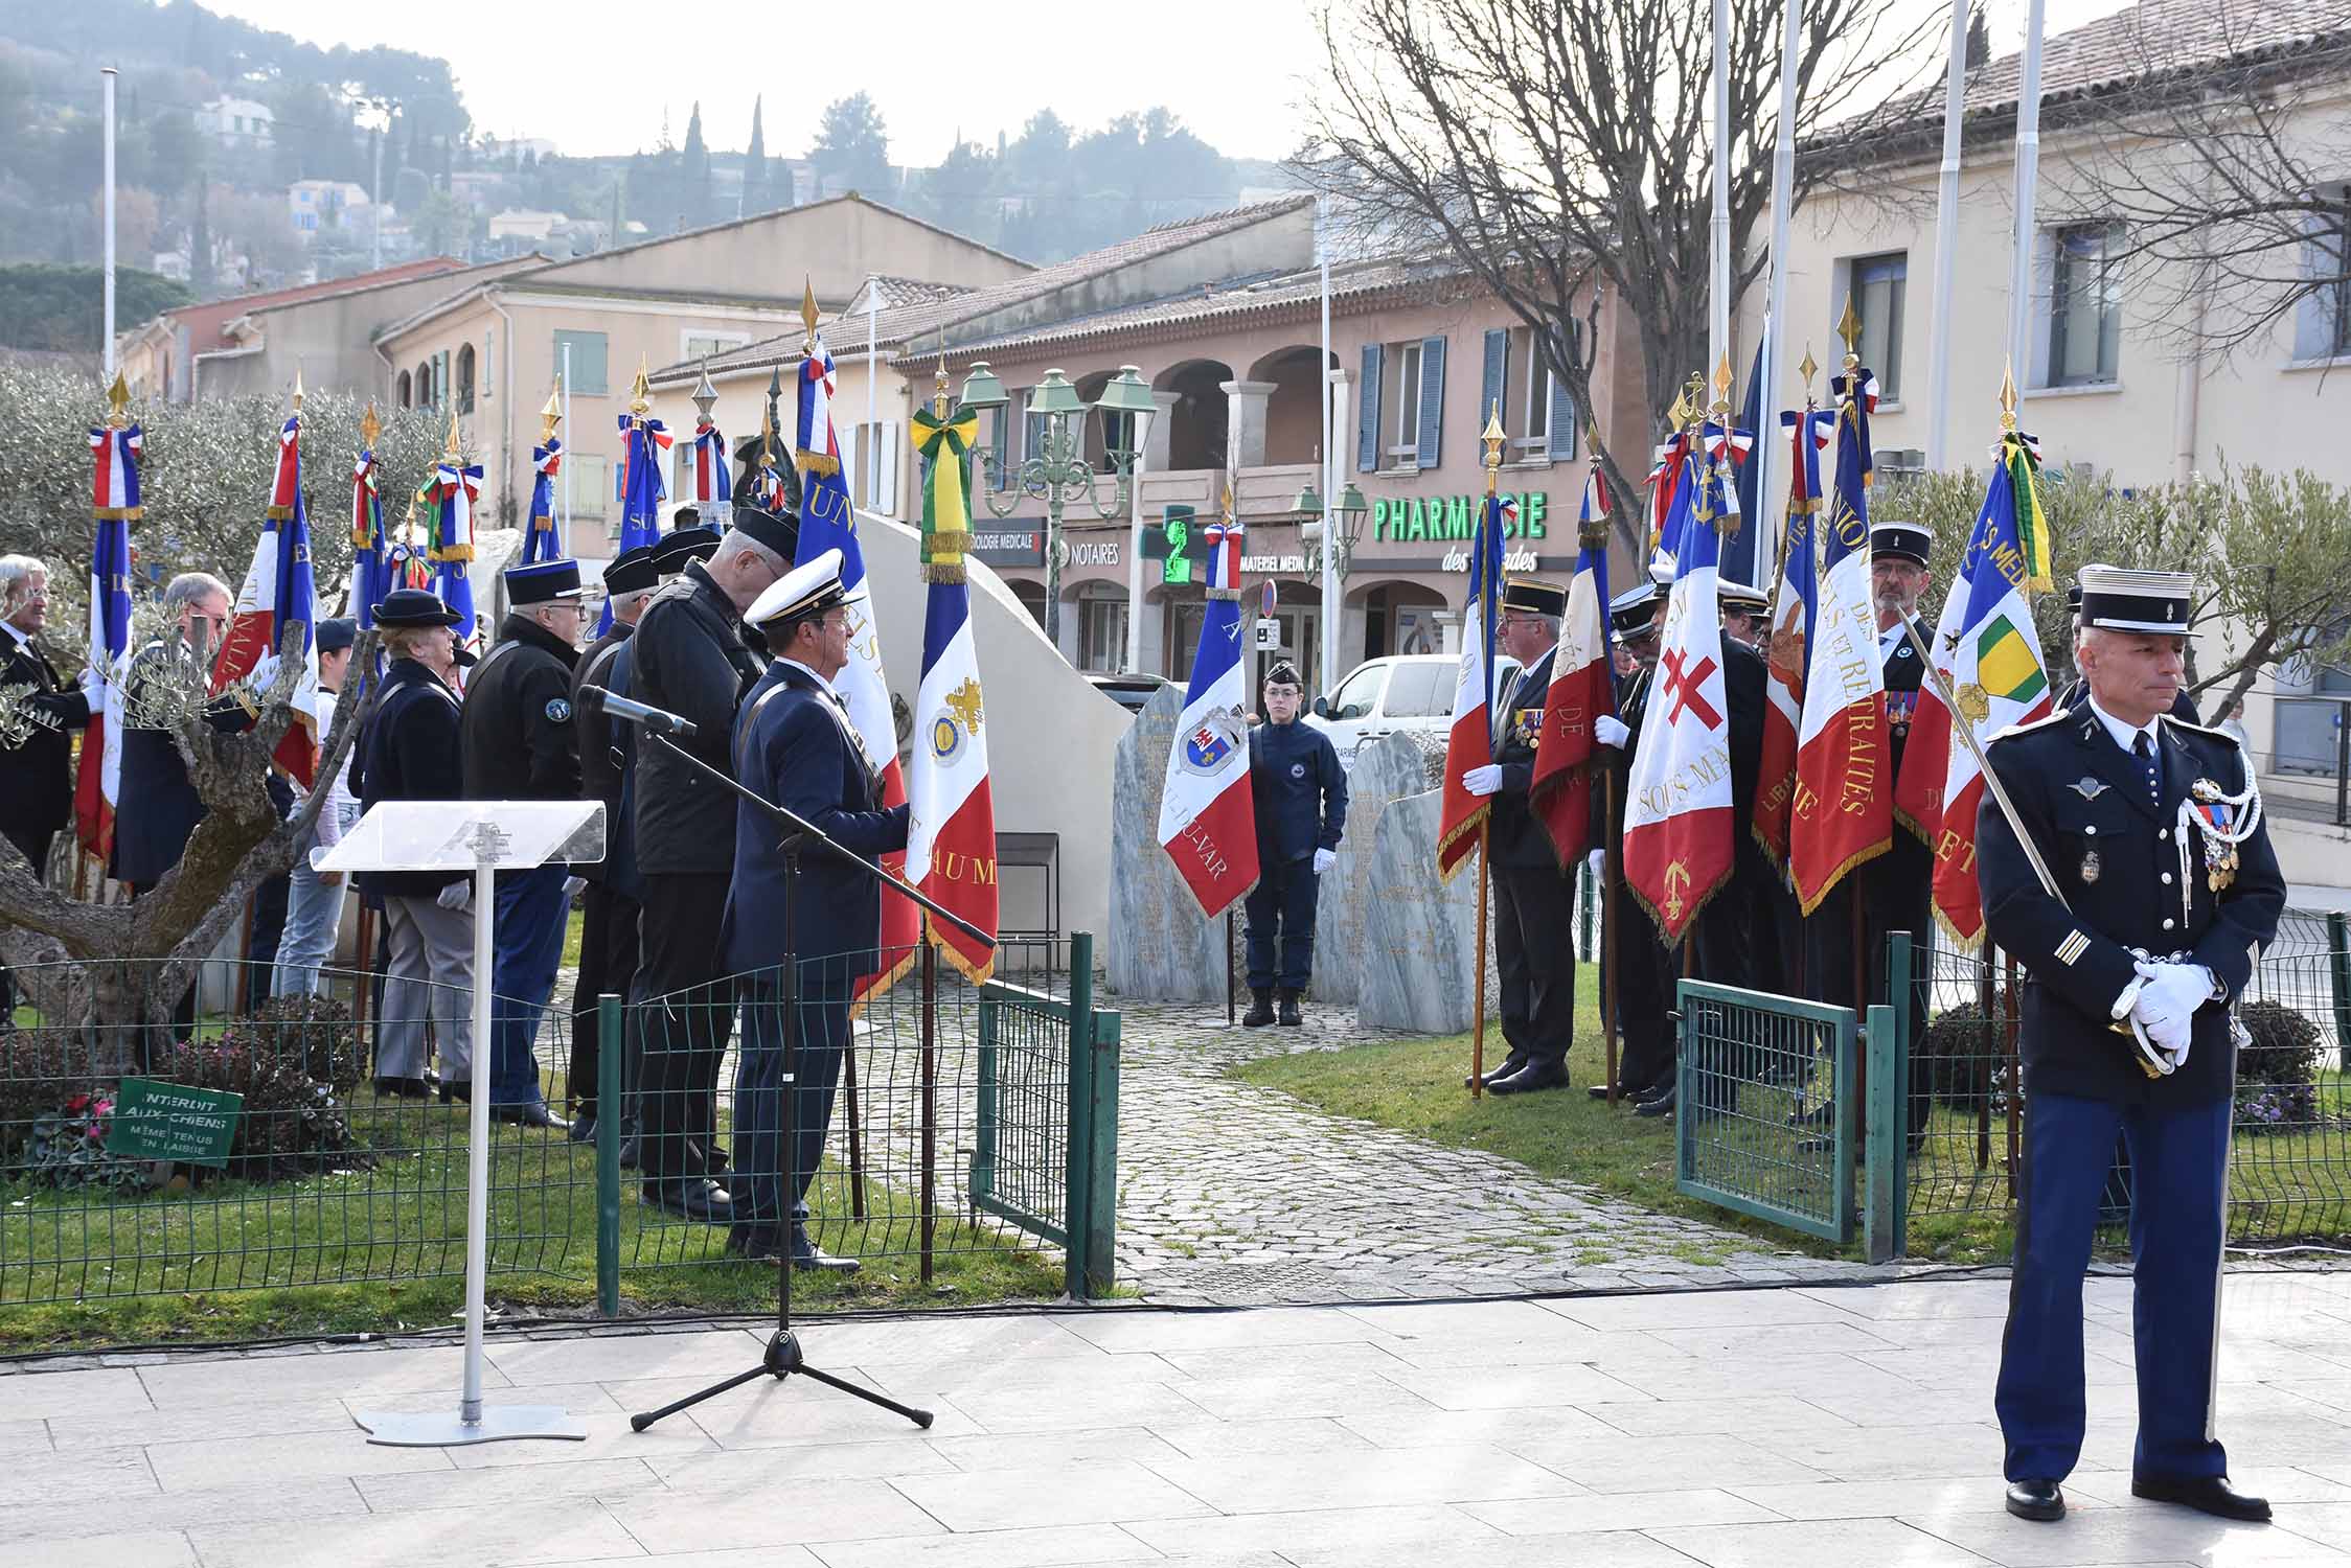
[[[1559,867],[1552,830],[1528,806],[1542,701],[1552,689],[1552,654],[1568,595],[1552,583],[1502,583],[1500,646],[1519,661],[1495,691],[1493,762],[1469,769],[1462,785],[1493,799],[1486,858],[1493,867],[1493,961],[1502,980],[1502,1039],[1509,1056],[1486,1077],[1498,1095],[1563,1088],[1575,1041],[1575,898]]]

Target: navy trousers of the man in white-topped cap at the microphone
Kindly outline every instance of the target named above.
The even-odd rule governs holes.
[[[809,1215],[809,1185],[825,1161],[832,1131],[832,1091],[842,1081],[849,1048],[849,997],[856,976],[849,964],[811,961],[799,980],[799,1041],[792,1063],[792,1145],[783,1143],[783,983],[773,971],[743,992],[743,1051],[736,1060],[734,1197],[738,1229],[783,1234],[785,1215],[799,1225]],[[785,1164],[790,1154],[790,1164]]]

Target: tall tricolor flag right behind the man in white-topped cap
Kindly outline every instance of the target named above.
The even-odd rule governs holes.
[[[849,508],[842,480],[842,442],[832,430],[832,355],[823,339],[811,339],[799,362],[799,559],[813,562],[825,550],[842,552],[842,590],[849,595],[849,663],[832,686],[849,708],[849,722],[865,741],[865,757],[877,769],[877,795],[884,806],[905,802],[905,773],[898,771],[898,724],[889,710],[889,679],[882,675],[882,630],[875,625],[872,588],[865,583],[865,548],[858,543],[858,520]],[[799,564],[799,562],[795,562]],[[905,875],[905,856],[882,856],[882,865]],[[858,994],[889,987],[915,961],[922,938],[919,910],[903,893],[882,889],[882,973],[858,983]]]

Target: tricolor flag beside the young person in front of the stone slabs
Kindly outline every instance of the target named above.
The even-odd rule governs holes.
[[[1159,795],[1159,849],[1215,919],[1258,886],[1258,813],[1248,792],[1248,682],[1241,675],[1241,527],[1213,522],[1208,616],[1192,654],[1168,780]]]

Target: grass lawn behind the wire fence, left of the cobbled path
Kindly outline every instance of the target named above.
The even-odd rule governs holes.
[[[463,1114],[463,1105],[376,1100],[362,1088],[350,1121],[379,1150],[374,1171],[214,1180],[139,1197],[0,1187],[0,1349],[402,1333],[458,1321]],[[595,1316],[592,1150],[515,1128],[494,1128],[494,1138],[491,1307]],[[773,1269],[722,1260],[722,1227],[670,1220],[637,1204],[628,1182],[623,1173],[623,1265],[661,1267],[623,1267],[623,1316],[773,1307]],[[957,1194],[945,1173],[940,1182],[931,1284],[915,1255],[915,1194],[868,1175],[870,1222],[816,1225],[818,1241],[860,1255],[863,1272],[797,1276],[795,1307],[964,1307],[1060,1293],[1058,1260],[957,1225]],[[816,1206],[837,1208],[825,1190]],[[336,1276],[357,1279],[306,1284]],[[59,1295],[75,1300],[28,1300]]]

